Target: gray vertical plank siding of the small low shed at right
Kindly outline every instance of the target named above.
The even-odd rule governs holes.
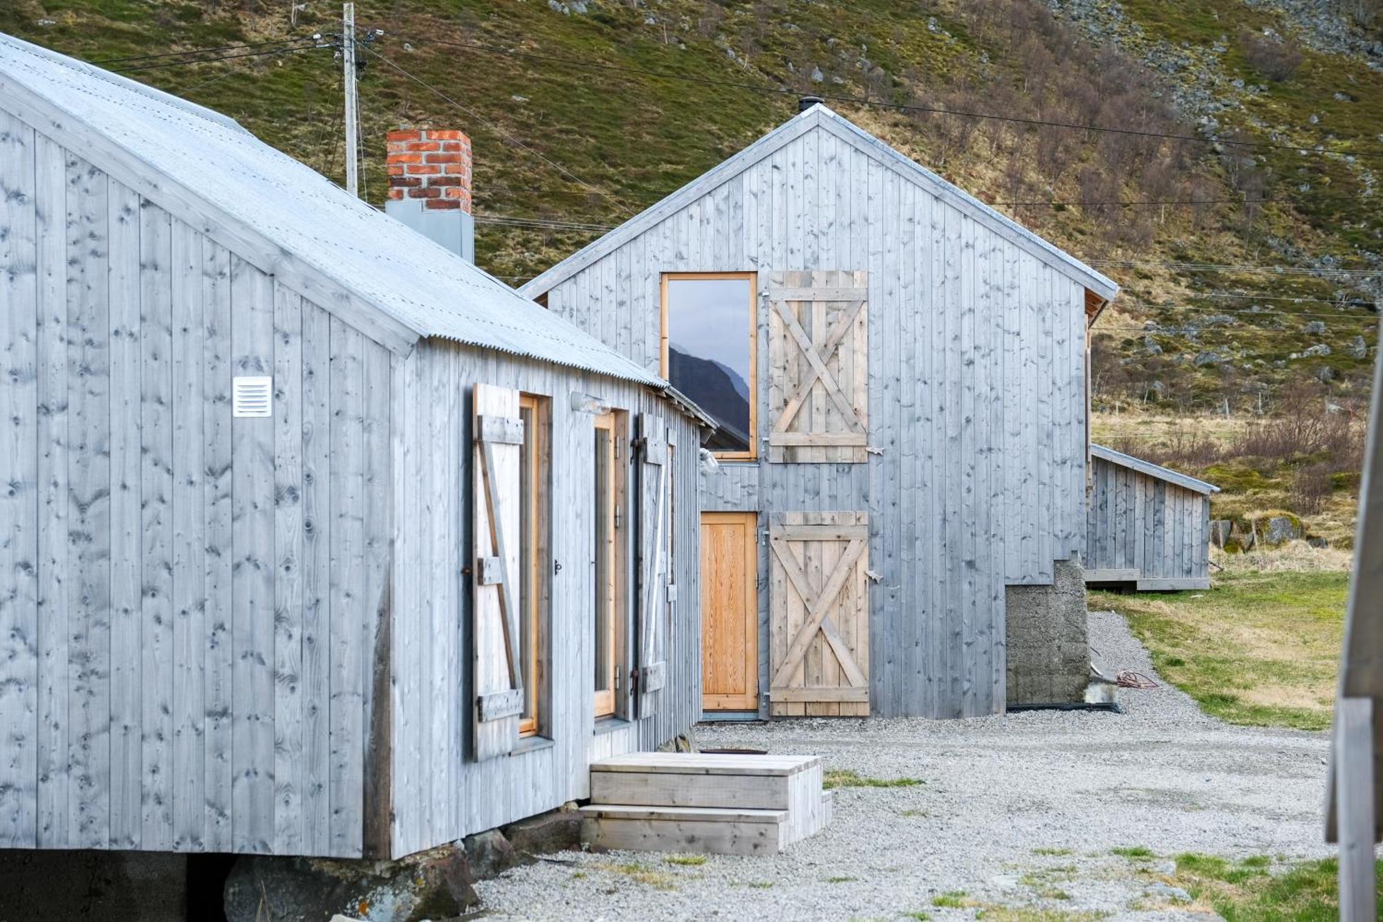
[[[1087,570],[1135,569],[1140,580],[1207,579],[1209,497],[1094,458],[1084,563]]]

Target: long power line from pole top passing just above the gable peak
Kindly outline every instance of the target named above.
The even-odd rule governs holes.
[[[416,44],[431,43],[431,44],[440,44],[440,46],[445,46],[445,47],[469,48],[469,50],[473,50],[473,51],[484,51],[484,53],[490,53],[490,54],[499,54],[499,55],[508,55],[508,57],[531,58],[531,60],[535,60],[535,61],[545,61],[545,62],[549,62],[549,64],[563,64],[563,65],[567,65],[567,66],[585,68],[588,71],[603,71],[603,72],[610,72],[610,73],[626,73],[626,75],[633,75],[633,76],[646,76],[646,78],[656,78],[656,79],[664,79],[664,80],[682,80],[685,83],[697,83],[697,84],[703,84],[703,86],[715,86],[715,87],[725,87],[725,89],[745,90],[745,91],[750,91],[750,93],[763,93],[763,94],[770,94],[770,96],[798,96],[799,94],[798,90],[794,90],[791,87],[772,87],[772,86],[762,86],[762,84],[755,84],[755,83],[741,83],[741,82],[737,82],[737,80],[718,80],[718,79],[714,79],[714,78],[686,76],[686,75],[682,75],[682,73],[672,73],[672,72],[668,72],[668,71],[650,71],[650,69],[644,69],[644,68],[628,68],[628,66],[620,66],[620,65],[613,65],[613,64],[596,64],[593,61],[582,61],[582,60],[577,60],[577,58],[561,58],[561,57],[549,55],[549,54],[538,54],[538,53],[534,53],[534,51],[520,51],[520,50],[516,50],[516,48],[501,48],[501,47],[496,47],[496,46],[492,46],[492,44],[484,44],[484,43],[477,43],[477,42],[448,42],[445,39],[407,39],[407,40],[409,43],[416,43]],[[1170,133],[1170,132],[1149,132],[1149,130],[1144,130],[1144,129],[1122,129],[1122,127],[1111,127],[1111,126],[1102,126],[1102,125],[1080,125],[1080,123],[1076,123],[1076,122],[1055,122],[1055,120],[1050,120],[1050,119],[1023,118],[1023,116],[1018,116],[1018,115],[994,115],[992,112],[968,112],[968,111],[963,111],[963,109],[943,109],[940,107],[929,107],[929,105],[916,105],[916,104],[904,104],[904,102],[885,102],[882,100],[871,100],[869,97],[857,97],[857,96],[841,96],[841,94],[830,94],[830,93],[813,93],[813,96],[817,96],[822,100],[826,100],[826,101],[830,101],[830,102],[846,102],[846,104],[852,104],[852,105],[869,105],[869,107],[896,109],[896,111],[903,111],[903,112],[921,112],[921,114],[927,114],[927,115],[949,115],[949,116],[956,116],[956,118],[987,119],[987,120],[994,120],[994,122],[1010,122],[1010,123],[1015,123],[1015,125],[1030,125],[1030,126],[1037,126],[1037,127],[1059,127],[1059,129],[1079,130],[1079,132],[1095,132],[1095,133],[1106,133],[1106,134],[1124,134],[1124,136],[1133,136],[1133,137],[1148,137],[1148,138],[1173,140],[1173,141],[1192,141],[1192,143],[1196,143],[1196,144],[1224,144],[1224,145],[1234,145],[1234,147],[1243,147],[1243,148],[1286,150],[1286,151],[1296,151],[1297,154],[1336,154],[1336,155],[1383,156],[1383,148],[1375,148],[1375,147],[1366,147],[1366,148],[1358,148],[1358,150],[1329,150],[1328,151],[1328,150],[1325,150],[1319,144],[1317,144],[1317,147],[1312,148],[1308,144],[1283,144],[1283,143],[1278,143],[1278,141],[1243,141],[1243,140],[1214,138],[1214,137],[1209,137],[1207,138],[1207,137],[1200,137],[1200,136],[1196,136],[1196,134],[1174,134],[1174,133]]]

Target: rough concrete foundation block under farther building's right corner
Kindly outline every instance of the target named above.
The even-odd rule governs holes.
[[[1080,559],[1057,561],[1051,586],[1007,590],[1008,706],[1083,703],[1090,644]]]

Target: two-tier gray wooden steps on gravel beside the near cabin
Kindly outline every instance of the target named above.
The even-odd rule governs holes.
[[[591,766],[596,849],[773,854],[831,820],[816,756],[631,753]]]

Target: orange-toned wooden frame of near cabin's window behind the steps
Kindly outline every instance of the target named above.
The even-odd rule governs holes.
[[[592,435],[596,429],[604,429],[610,433],[610,454],[607,455],[607,476],[606,496],[609,503],[602,514],[606,515],[606,534],[607,550],[610,555],[607,570],[607,580],[604,590],[606,604],[609,605],[610,623],[606,630],[606,637],[593,637],[596,644],[603,644],[606,649],[607,662],[610,663],[610,685],[599,689],[592,689],[593,694],[593,712],[596,718],[615,717],[622,710],[621,695],[626,691],[626,683],[620,681],[621,674],[625,669],[625,647],[628,640],[628,620],[629,620],[629,606],[628,606],[628,593],[625,581],[628,579],[625,570],[625,545],[628,544],[628,509],[625,508],[626,497],[626,468],[628,468],[628,414],[622,410],[610,410],[597,415],[593,421]],[[593,450],[592,443],[592,450]],[[595,475],[595,455],[592,455],[592,476]],[[595,522],[592,522],[592,540],[595,539]],[[593,548],[596,554],[600,548]],[[595,619],[592,619],[592,630],[597,630],[599,626]]]

